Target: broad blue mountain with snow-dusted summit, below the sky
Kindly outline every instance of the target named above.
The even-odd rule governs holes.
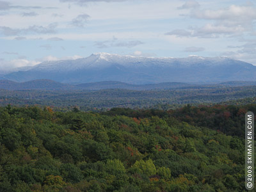
[[[77,84],[99,81],[220,83],[256,81],[256,67],[225,57],[150,58],[98,53],[78,60],[47,61],[6,74],[4,78],[18,82],[51,79]]]

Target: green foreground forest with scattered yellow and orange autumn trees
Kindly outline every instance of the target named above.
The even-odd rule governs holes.
[[[245,191],[244,106],[0,108],[0,191]]]

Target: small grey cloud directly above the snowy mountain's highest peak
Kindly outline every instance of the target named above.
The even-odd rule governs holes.
[[[133,41],[128,41],[128,42],[120,42],[118,41],[115,36],[113,36],[112,40],[106,40],[102,42],[95,42],[94,45],[100,49],[102,48],[108,48],[108,47],[135,47],[136,45],[141,45],[143,42],[138,41],[138,40],[133,40]]]

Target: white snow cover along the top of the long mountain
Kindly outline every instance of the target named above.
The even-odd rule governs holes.
[[[180,66],[184,65],[198,65],[202,60],[205,61],[204,65],[218,64],[228,58],[203,58],[200,56],[189,56],[188,58],[152,58],[141,56],[122,56],[118,54],[109,54],[106,52],[99,52],[92,54],[88,58],[81,58],[77,60],[60,60],[60,61],[45,61],[34,67],[19,68],[16,71],[26,70],[40,70],[40,71],[74,71],[83,68],[106,68],[111,65],[121,65],[124,67],[161,67],[161,66],[175,66],[179,63]],[[199,63],[198,63],[199,62]]]

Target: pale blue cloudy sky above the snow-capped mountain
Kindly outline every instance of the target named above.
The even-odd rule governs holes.
[[[0,70],[95,52],[227,56],[256,65],[256,3],[241,0],[0,1]]]

